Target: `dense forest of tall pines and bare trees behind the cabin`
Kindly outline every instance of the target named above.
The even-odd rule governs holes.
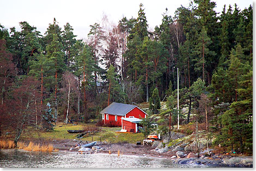
[[[179,75],[180,107],[188,107],[180,124],[210,122],[219,143],[252,151],[253,9],[215,7],[194,0],[173,17],[166,9],[150,32],[140,4],[137,18],[90,25],[86,42],[55,18],[44,35],[27,22],[10,33],[0,26],[1,128],[100,119],[111,102],[152,104],[157,88],[169,110],[154,113],[167,131],[169,113],[177,123]]]

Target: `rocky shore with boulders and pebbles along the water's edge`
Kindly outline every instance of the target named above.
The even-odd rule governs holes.
[[[62,151],[69,151],[70,148],[75,145],[72,140],[53,140],[48,143],[52,143],[54,148]],[[217,155],[211,153],[211,156],[205,156],[202,153],[194,154],[188,151],[176,151],[176,149],[185,148],[183,143],[177,145],[166,151],[167,148],[163,147],[161,144],[163,142],[154,143],[152,146],[136,145],[128,143],[106,143],[97,142],[93,148],[85,148],[82,151],[78,149],[72,149],[72,151],[77,151],[77,154],[94,154],[94,153],[111,153],[120,155],[139,155],[139,156],[150,156],[150,157],[160,157],[172,160],[176,164],[196,164],[204,165],[206,167],[253,167],[253,157],[252,156],[230,156],[230,155]],[[159,148],[163,145],[163,148]],[[164,149],[165,148],[165,149]],[[174,150],[175,149],[175,150]],[[119,151],[119,152],[118,152]]]

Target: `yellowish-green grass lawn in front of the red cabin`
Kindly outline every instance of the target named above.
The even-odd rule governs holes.
[[[36,131],[34,129],[25,131],[22,134],[23,138],[45,138],[45,139],[74,139],[79,134],[71,134],[66,130],[74,129],[74,130],[81,130],[83,129],[84,124],[64,124],[64,123],[57,123],[56,126],[54,126],[53,131]],[[94,124],[88,124],[88,125],[94,125]],[[101,127],[100,132],[96,132],[94,134],[87,134],[83,138],[81,138],[82,141],[106,141],[108,143],[136,143],[137,141],[142,141],[144,136],[142,133],[137,134],[125,134],[116,132],[121,130],[121,127]]]

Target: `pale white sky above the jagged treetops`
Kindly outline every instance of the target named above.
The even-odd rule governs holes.
[[[234,7],[236,3],[239,9],[243,10],[253,5],[252,0],[215,0],[216,12],[221,12],[224,4],[228,7],[231,4]],[[168,8],[168,15],[174,16],[177,8],[183,5],[188,7],[189,0],[179,1],[144,1],[144,0],[0,0],[0,23],[5,28],[16,27],[20,30],[19,22],[27,21],[31,26],[37,28],[42,35],[45,34],[49,23],[53,23],[55,17],[59,26],[63,29],[69,22],[74,28],[74,34],[77,39],[87,37],[90,24],[101,23],[103,14],[108,16],[108,20],[118,23],[123,16],[127,19],[137,18],[139,4],[142,3],[145,9],[145,15],[149,24],[149,29],[154,30],[159,26],[162,20],[162,14]],[[227,8],[226,8],[227,9]],[[234,9],[234,8],[233,8]]]

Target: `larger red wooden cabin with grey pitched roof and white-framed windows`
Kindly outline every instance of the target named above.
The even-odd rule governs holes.
[[[115,102],[107,106],[100,113],[102,114],[104,124],[107,125],[109,123],[116,126],[122,126],[121,117],[135,117],[140,119],[146,118],[148,115],[146,112],[139,109],[138,106]]]

